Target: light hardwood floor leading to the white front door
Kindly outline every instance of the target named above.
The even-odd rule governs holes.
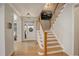
[[[36,41],[15,43],[14,56],[38,56],[38,47]]]

